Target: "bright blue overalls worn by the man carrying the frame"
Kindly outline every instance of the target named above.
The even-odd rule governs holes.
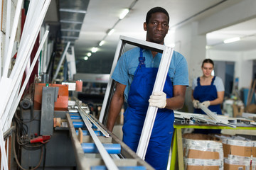
[[[124,113],[123,141],[134,152],[137,151],[139,138],[142,133],[146,111],[149,107],[149,96],[154,87],[158,68],[149,68],[144,64],[142,48],[140,49],[139,65],[134,73],[134,79],[129,89],[128,108]],[[164,85],[167,98],[173,96],[173,86],[169,75]],[[146,151],[145,161],[154,169],[166,169],[174,132],[174,111],[159,108],[154,127]]]

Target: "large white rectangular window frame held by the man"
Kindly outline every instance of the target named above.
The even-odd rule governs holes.
[[[128,38],[128,37],[120,36],[119,43],[117,45],[117,50],[116,50],[115,55],[114,55],[112,69],[111,69],[111,72],[110,72],[110,80],[107,84],[107,89],[106,89],[106,92],[105,92],[104,101],[102,103],[102,110],[100,112],[99,120],[100,120],[101,123],[104,121],[103,119],[105,118],[105,115],[107,114],[108,107],[109,107],[110,100],[111,100],[112,91],[114,89],[113,88],[114,81],[111,78],[112,73],[114,72],[114,67],[117,64],[118,58],[122,55],[122,52],[124,51],[124,44],[125,43],[128,43],[130,45],[135,45],[135,46],[138,46],[138,47],[143,47],[143,48],[146,48],[148,50],[154,50],[156,52],[163,52],[163,57],[161,59],[160,65],[159,65],[159,71],[156,75],[156,82],[154,84],[153,92],[163,91],[163,89],[164,89],[164,82],[166,80],[166,75],[168,73],[168,68],[169,68],[169,65],[171,63],[171,57],[172,57],[172,54],[173,54],[174,50],[171,47],[166,47],[164,45],[159,45],[159,44],[156,44],[156,43],[153,43],[153,42],[148,42],[148,41],[144,41],[144,40],[137,40],[137,39],[134,39],[134,38]],[[138,149],[137,149],[137,154],[142,159],[144,159],[144,157],[145,157],[146,149],[147,149],[147,146],[149,144],[149,138],[150,138],[150,135],[151,135],[151,130],[153,128],[154,120],[156,118],[156,112],[157,112],[156,107],[149,106],[148,111],[146,113],[144,128],[142,130],[142,136],[141,136],[141,139],[139,141],[139,146],[138,146]]]

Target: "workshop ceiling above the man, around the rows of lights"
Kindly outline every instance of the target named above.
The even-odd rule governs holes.
[[[55,23],[61,27],[60,36],[65,42],[70,41],[71,45],[74,45],[76,60],[82,62],[83,67],[87,67],[92,63],[102,61],[112,64],[119,35],[145,40],[146,32],[143,30],[143,23],[146,12],[154,6],[163,6],[169,11],[170,28],[173,28],[210,16],[241,1],[244,0],[52,0],[46,15],[46,23],[47,21],[54,23],[50,21],[54,17],[53,14],[49,13],[55,6],[56,13],[58,13],[55,13],[58,15],[58,21]],[[119,14],[124,8],[131,10],[124,19],[119,20]],[[68,11],[68,9],[74,11]],[[207,43],[215,46],[216,50],[254,49],[255,43],[252,41],[256,42],[255,36],[247,38],[246,44],[240,44],[241,41],[240,43],[222,45],[220,42],[223,42],[225,38],[232,38],[234,35],[248,35],[248,31],[251,35],[255,34],[255,23],[255,20],[252,20],[239,23],[237,26],[216,30],[208,34]],[[107,35],[110,28],[114,28],[114,33]],[[105,44],[99,46],[101,40],[104,40]],[[91,52],[92,47],[98,47],[98,50],[85,61],[84,57]]]

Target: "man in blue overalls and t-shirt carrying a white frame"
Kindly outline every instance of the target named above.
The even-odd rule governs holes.
[[[146,41],[164,45],[169,30],[167,11],[161,7],[151,8],[146,14],[144,30]],[[123,141],[136,152],[147,108],[149,105],[158,107],[145,161],[155,169],[166,169],[174,132],[172,110],[183,107],[188,86],[188,67],[185,58],[174,52],[164,92],[151,95],[160,61],[161,53],[139,47],[124,52],[120,57],[112,74],[117,85],[110,103],[107,128],[112,131],[126,100],[128,108],[124,113]]]

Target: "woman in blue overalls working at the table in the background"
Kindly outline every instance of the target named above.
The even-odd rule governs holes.
[[[193,79],[192,95],[194,113],[204,113],[201,108],[198,108],[198,103],[202,103],[203,106],[210,109],[213,113],[221,115],[220,104],[223,103],[224,98],[224,85],[220,77],[212,76],[214,63],[213,60],[206,59],[202,63],[203,76]],[[196,132],[206,132],[207,130],[195,130]],[[194,132],[195,132],[194,131]],[[220,130],[211,131],[220,132]]]

